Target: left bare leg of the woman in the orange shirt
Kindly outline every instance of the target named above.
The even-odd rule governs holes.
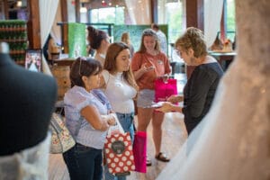
[[[162,122],[164,120],[163,112],[153,112],[153,140],[156,148],[156,156],[160,152],[161,140],[162,140]]]

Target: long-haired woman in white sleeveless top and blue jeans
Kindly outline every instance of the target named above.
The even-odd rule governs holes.
[[[137,94],[137,85],[130,70],[130,49],[123,42],[112,43],[108,50],[103,67],[104,94],[116,112],[121,126],[125,132],[130,132],[134,139],[134,103]],[[105,170],[106,172],[106,170]],[[106,172],[105,179],[115,179],[115,176]],[[117,177],[118,180],[126,179],[125,176]]]

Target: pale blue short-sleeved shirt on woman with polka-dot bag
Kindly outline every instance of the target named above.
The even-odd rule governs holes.
[[[81,86],[73,86],[64,97],[67,129],[76,142],[87,147],[102,149],[107,131],[94,130],[93,126],[81,116],[80,112],[87,105],[94,106],[101,115],[108,113],[106,103]]]

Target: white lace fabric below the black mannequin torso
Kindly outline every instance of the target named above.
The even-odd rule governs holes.
[[[48,179],[50,133],[32,148],[0,157],[0,180]]]

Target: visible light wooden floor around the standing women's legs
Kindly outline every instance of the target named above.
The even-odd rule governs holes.
[[[135,117],[136,118],[136,117]],[[184,127],[184,116],[178,112],[166,113],[163,123],[162,151],[169,157],[174,157],[175,153],[181,148],[187,133]],[[136,121],[136,120],[135,120]],[[132,172],[128,180],[154,180],[162,171],[166,163],[154,158],[154,144],[152,141],[152,128],[148,127],[148,157],[152,159],[152,166],[148,166],[146,174]],[[68,180],[68,172],[61,155],[50,155],[49,157],[49,180]]]

